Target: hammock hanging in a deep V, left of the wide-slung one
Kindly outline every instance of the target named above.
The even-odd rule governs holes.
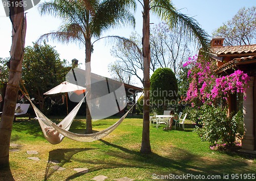
[[[86,95],[84,96],[84,98],[85,97]],[[57,132],[54,129],[54,127],[51,126],[53,122],[49,120],[44,114],[42,114],[42,112],[33,104],[33,102],[28,96],[26,96],[26,98],[29,100],[29,102],[31,103],[35,111],[40,127],[47,141],[53,145],[60,143],[64,139],[64,135]],[[72,122],[74,121],[77,115],[79,108],[82,105],[83,99],[73,108],[73,110],[68,114],[68,116],[65,117],[59,124],[57,125],[55,123],[53,124],[56,125],[57,127],[61,127],[63,130],[69,130]]]

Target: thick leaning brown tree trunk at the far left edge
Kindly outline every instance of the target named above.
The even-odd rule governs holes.
[[[22,0],[10,0],[10,4]],[[22,76],[22,62],[25,48],[26,18],[23,7],[10,7],[12,22],[12,46],[10,51],[10,72],[5,94],[5,103],[0,121],[0,166],[9,166],[9,148],[14,111],[18,97],[18,86]]]

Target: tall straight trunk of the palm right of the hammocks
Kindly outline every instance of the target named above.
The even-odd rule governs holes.
[[[143,29],[142,29],[142,52],[143,52],[143,128],[140,152],[151,153],[150,146],[150,1],[144,0]]]

